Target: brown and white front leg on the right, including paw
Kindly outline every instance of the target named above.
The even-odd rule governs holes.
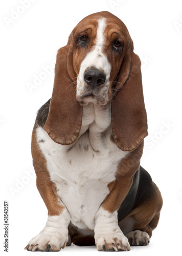
[[[118,164],[116,180],[108,184],[110,193],[95,216],[95,241],[99,251],[130,250],[128,239],[118,226],[117,210],[133,183],[133,176],[140,166],[142,152],[143,143],[121,160]]]

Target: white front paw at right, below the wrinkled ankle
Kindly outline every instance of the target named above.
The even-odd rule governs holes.
[[[98,251],[129,251],[128,239],[120,231],[111,234],[99,234],[95,238]]]

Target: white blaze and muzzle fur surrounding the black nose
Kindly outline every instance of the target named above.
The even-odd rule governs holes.
[[[107,59],[107,56],[103,54],[103,46],[105,42],[104,30],[106,28],[106,19],[101,18],[98,20],[96,44],[93,46],[93,50],[90,51],[84,60],[81,63],[79,75],[77,78],[77,100],[80,101],[82,95],[87,91],[87,84],[83,79],[83,75],[86,69],[90,67],[95,67],[99,70],[102,70],[106,75],[106,80],[104,86],[99,89],[100,97],[102,98],[102,104],[106,104],[109,101],[108,98],[108,89],[109,89],[109,77],[111,71],[111,65]],[[100,55],[100,56],[99,56]],[[88,98],[89,102],[92,98]],[[84,101],[87,103],[86,99]],[[93,98],[92,102],[95,102],[96,99]],[[100,100],[101,101],[101,100]]]

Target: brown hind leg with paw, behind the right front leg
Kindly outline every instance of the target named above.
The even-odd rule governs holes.
[[[119,222],[119,226],[131,246],[149,244],[152,230],[158,224],[162,205],[160,190],[155,185],[151,199],[135,207],[128,216]]]

